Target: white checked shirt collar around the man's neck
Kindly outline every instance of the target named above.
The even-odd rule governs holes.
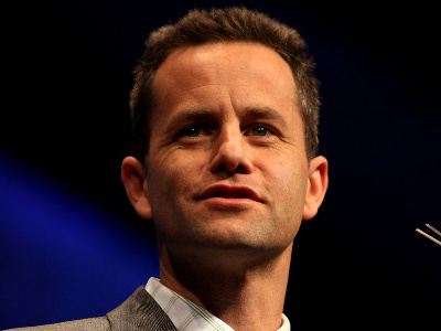
[[[193,303],[151,277],[146,290],[169,316],[180,331],[234,331],[209,311]],[[282,325],[277,331],[290,331],[288,318],[282,314]]]

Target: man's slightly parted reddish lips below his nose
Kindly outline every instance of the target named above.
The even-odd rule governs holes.
[[[207,199],[224,199],[228,201],[245,201],[252,200],[257,202],[261,202],[259,194],[248,186],[236,186],[236,185],[226,185],[226,184],[217,184],[205,189],[197,197],[198,200],[207,200]]]

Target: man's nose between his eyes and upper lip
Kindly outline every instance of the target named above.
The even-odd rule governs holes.
[[[250,173],[252,163],[247,141],[239,128],[224,128],[214,143],[214,157],[209,164],[213,173]]]

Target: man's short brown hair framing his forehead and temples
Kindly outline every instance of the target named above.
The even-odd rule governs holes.
[[[153,31],[136,67],[130,95],[133,156],[142,163],[148,156],[150,116],[153,104],[153,78],[159,66],[174,50],[213,42],[254,42],[275,50],[291,67],[298,89],[300,113],[304,122],[309,160],[316,154],[319,139],[319,82],[313,75],[314,62],[306,56],[299,33],[266,14],[246,8],[193,10],[173,25]]]

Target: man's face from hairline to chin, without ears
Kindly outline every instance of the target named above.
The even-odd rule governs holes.
[[[289,65],[259,44],[174,51],[154,78],[146,192],[174,249],[284,249],[309,188]]]

